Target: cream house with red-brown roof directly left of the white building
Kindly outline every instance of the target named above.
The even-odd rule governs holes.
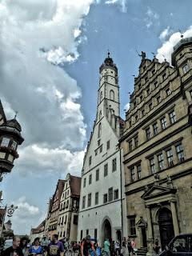
[[[58,214],[59,239],[77,241],[80,190],[81,178],[67,174]]]

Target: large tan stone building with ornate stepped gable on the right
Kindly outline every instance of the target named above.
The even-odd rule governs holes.
[[[172,66],[142,53],[124,151],[128,234],[139,247],[162,249],[192,230],[192,38],[174,46]]]

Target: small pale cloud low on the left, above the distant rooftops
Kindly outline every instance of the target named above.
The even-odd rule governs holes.
[[[13,223],[12,228],[16,231],[16,234],[29,234],[30,227],[38,226],[46,218],[46,215],[42,213],[38,206],[27,202],[25,196],[18,198],[13,204],[14,206],[18,206],[11,219]]]

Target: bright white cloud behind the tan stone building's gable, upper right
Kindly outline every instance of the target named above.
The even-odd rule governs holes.
[[[192,36],[192,26],[183,33],[184,38]],[[157,50],[157,58],[162,62],[165,58],[168,62],[171,62],[171,54],[174,51],[174,46],[181,40],[181,34],[176,32],[172,34],[166,42]]]

